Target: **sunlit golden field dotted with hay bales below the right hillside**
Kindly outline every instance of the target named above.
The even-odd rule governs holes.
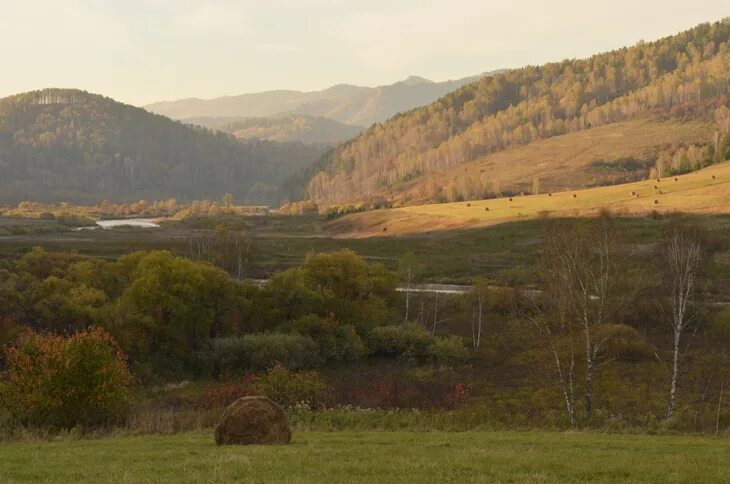
[[[730,162],[678,177],[564,191],[348,215],[330,225],[342,237],[438,232],[548,217],[594,215],[608,208],[623,215],[730,213]]]

